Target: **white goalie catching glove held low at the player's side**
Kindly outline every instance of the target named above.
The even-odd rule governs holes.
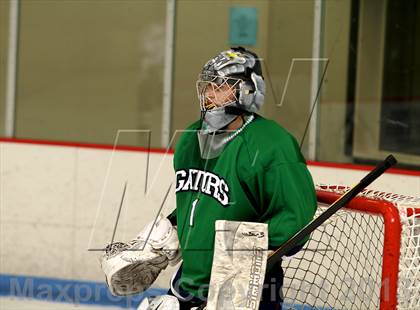
[[[109,244],[100,262],[111,293],[125,296],[147,290],[168,264],[180,260],[176,229],[159,216],[129,243]]]

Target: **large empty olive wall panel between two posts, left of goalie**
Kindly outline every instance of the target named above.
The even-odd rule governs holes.
[[[160,142],[164,1],[22,1],[16,136]],[[120,143],[146,145],[145,135]]]

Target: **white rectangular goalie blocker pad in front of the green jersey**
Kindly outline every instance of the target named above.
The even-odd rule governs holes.
[[[257,310],[267,264],[264,223],[216,221],[207,310]]]

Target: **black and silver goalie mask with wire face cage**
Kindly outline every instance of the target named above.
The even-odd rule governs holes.
[[[203,133],[221,130],[243,113],[257,112],[265,93],[258,56],[242,47],[221,52],[204,65],[197,93]]]

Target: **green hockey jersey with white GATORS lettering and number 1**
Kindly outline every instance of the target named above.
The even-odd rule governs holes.
[[[207,296],[215,221],[268,224],[278,247],[312,220],[315,189],[296,140],[276,122],[255,119],[213,159],[203,159],[189,126],[176,145],[176,221],[183,268],[179,285]]]

